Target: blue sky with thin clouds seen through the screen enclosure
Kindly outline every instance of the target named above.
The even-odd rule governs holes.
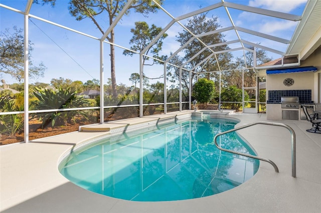
[[[57,0],[55,7],[51,5],[33,4],[30,14],[47,19],[49,21],[61,24],[65,27],[73,28],[83,32],[78,34],[71,30],[64,29],[59,26],[46,23],[37,18],[29,18],[29,39],[33,43],[34,50],[31,52],[34,65],[43,62],[47,67],[44,77],[30,79],[30,83],[46,82],[50,83],[52,78],[63,77],[71,80],[81,80],[86,82],[93,78],[99,79],[99,41],[95,38],[100,38],[102,33],[89,19],[81,21],[75,20],[68,11],[69,0]],[[221,2],[221,0],[165,0],[162,5],[173,17],[186,14],[188,12],[204,8],[211,4]],[[276,10],[295,15],[301,15],[306,0],[227,0],[249,6],[260,7],[264,9]],[[24,11],[27,0],[0,0],[0,4],[13,7]],[[262,33],[267,33],[273,36],[279,36],[285,39],[291,39],[292,33],[298,22],[287,21],[283,19],[268,17],[256,13],[249,13],[238,9],[228,8],[232,20],[236,26],[257,30]],[[222,27],[231,26],[224,7],[219,7],[208,12],[207,16],[217,16],[218,23]],[[130,11],[129,15],[123,16],[121,21],[115,27],[115,43],[130,48],[129,40],[132,36],[130,29],[134,27],[135,21],[144,20],[149,25],[166,27],[172,18],[166,12],[160,10],[156,13],[149,14],[144,17],[141,14]],[[106,30],[109,26],[106,15],[97,18],[99,24]],[[187,23],[188,19],[181,20],[182,24]],[[16,25],[20,28],[24,26],[24,16],[10,9],[0,7],[0,30],[12,28]],[[169,55],[170,52],[175,52],[180,44],[176,41],[178,32],[183,30],[182,26],[175,23],[169,28],[166,33],[168,37],[164,40],[163,50],[161,54]],[[242,39],[253,43],[275,48],[280,51],[286,50],[286,45],[262,39],[261,37],[250,35],[244,32],[239,32]],[[237,39],[234,30],[225,31],[226,40]],[[86,36],[88,35],[88,36]],[[240,44],[230,44],[230,48],[239,47]],[[126,56],[122,54],[123,49],[116,47],[116,82],[132,85],[129,81],[130,74],[139,72],[139,60],[137,56]],[[239,56],[243,51],[235,51],[233,54]],[[274,59],[280,55],[268,52]],[[149,77],[161,76],[164,68],[161,65],[153,65],[144,67],[144,73]],[[104,79],[107,83],[107,78],[110,77],[110,61],[109,61],[109,45],[104,44]],[[0,78],[5,79],[8,84],[17,82],[11,76],[1,74]],[[159,79],[163,80],[163,79]],[[1,86],[1,85],[0,85]]]

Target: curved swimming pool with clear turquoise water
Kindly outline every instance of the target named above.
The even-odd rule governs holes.
[[[75,149],[59,166],[71,182],[126,200],[182,200],[236,187],[257,171],[258,160],[220,151],[214,136],[237,121],[193,118],[106,137]],[[237,133],[222,135],[222,147],[254,154]]]

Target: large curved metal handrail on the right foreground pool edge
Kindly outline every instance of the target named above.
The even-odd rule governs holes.
[[[284,123],[275,123],[275,122],[265,122],[265,121],[257,121],[257,122],[254,122],[254,123],[249,123],[249,124],[246,124],[246,125],[243,125],[243,126],[240,126],[240,127],[236,127],[236,128],[233,128],[233,129],[230,129],[230,130],[227,130],[227,131],[223,131],[221,133],[218,133],[217,135],[215,135],[214,137],[214,143],[216,145],[216,147],[222,151],[227,151],[227,152],[231,152],[231,153],[234,153],[234,154],[239,154],[239,155],[243,155],[243,156],[247,156],[247,157],[251,157],[251,158],[255,158],[255,159],[259,159],[259,160],[263,160],[263,161],[266,161],[270,164],[273,165],[274,167],[274,170],[276,172],[279,172],[279,169],[278,167],[276,166],[276,164],[267,159],[267,158],[263,158],[263,157],[259,157],[259,156],[255,156],[255,155],[252,155],[252,154],[246,154],[246,153],[242,153],[242,152],[238,152],[238,151],[233,151],[233,150],[229,150],[229,149],[226,149],[226,148],[222,148],[220,147],[218,144],[217,144],[217,137],[222,135],[222,134],[226,134],[226,133],[229,133],[229,132],[232,132],[232,131],[236,131],[236,130],[239,130],[239,129],[242,129],[242,128],[246,128],[246,127],[249,127],[249,126],[252,126],[252,125],[256,125],[256,124],[265,124],[265,125],[276,125],[276,126],[283,126],[285,128],[287,128],[290,132],[291,132],[291,142],[292,142],[292,145],[291,145],[291,153],[292,153],[292,177],[296,177],[296,148],[295,148],[295,132],[294,130],[284,124]]]

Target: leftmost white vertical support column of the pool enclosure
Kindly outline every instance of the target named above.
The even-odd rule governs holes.
[[[25,26],[24,26],[24,60],[25,60],[25,66],[24,66],[24,99],[25,99],[25,114],[24,114],[24,141],[29,142],[29,21],[28,21],[28,14],[25,14]]]

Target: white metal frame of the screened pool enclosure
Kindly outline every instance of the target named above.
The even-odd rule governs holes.
[[[47,23],[50,23],[50,24],[53,24],[53,25],[56,25],[58,27],[62,27],[62,28],[65,28],[67,30],[71,30],[71,31],[74,31],[76,33],[80,33],[82,35],[85,35],[85,36],[88,36],[88,37],[91,37],[93,39],[97,39],[99,40],[100,42],[100,106],[99,107],[84,107],[84,108],[72,108],[72,109],[65,109],[65,110],[78,110],[78,109],[96,109],[96,108],[99,108],[100,109],[100,123],[103,123],[104,122],[104,108],[106,108],[106,106],[104,106],[104,85],[103,85],[103,79],[104,79],[104,59],[103,59],[103,54],[104,54],[104,49],[103,49],[103,44],[104,43],[108,43],[108,44],[111,44],[111,45],[115,45],[117,46],[117,44],[114,44],[114,43],[110,43],[108,41],[106,41],[106,37],[107,35],[110,33],[110,31],[113,29],[113,27],[116,26],[116,24],[118,23],[118,21],[121,19],[121,17],[125,14],[126,10],[128,9],[128,7],[132,4],[134,0],[128,0],[127,3],[125,4],[125,6],[123,7],[123,9],[121,10],[121,12],[119,13],[119,15],[115,18],[115,20],[113,21],[113,23],[108,27],[108,29],[105,31],[105,33],[103,34],[102,37],[100,38],[97,38],[97,37],[94,37],[94,36],[91,36],[91,35],[88,35],[86,33],[83,33],[83,32],[80,32],[80,31],[77,31],[75,29],[72,29],[72,28],[69,28],[69,27],[66,27],[66,26],[63,26],[61,24],[57,24],[57,23],[54,23],[52,21],[49,21],[49,20],[46,20],[44,18],[40,18],[40,17],[37,17],[35,15],[32,15],[30,14],[30,9],[31,9],[31,6],[32,6],[32,3],[33,3],[33,0],[28,0],[27,2],[27,5],[26,5],[26,8],[25,8],[25,11],[20,11],[18,9],[15,9],[15,8],[12,8],[12,7],[9,7],[9,6],[6,6],[4,4],[0,4],[1,7],[4,7],[4,8],[7,8],[7,9],[11,9],[13,11],[16,11],[16,12],[19,12],[19,13],[22,13],[24,14],[24,39],[25,39],[25,55],[24,55],[24,61],[25,61],[25,65],[24,65],[24,69],[25,69],[25,76],[24,76],[24,90],[25,91],[28,91],[29,90],[29,52],[28,52],[28,47],[29,47],[29,17],[32,17],[32,18],[36,18],[36,19],[39,19],[39,20],[42,20],[42,21],[45,21]],[[221,70],[220,69],[220,64],[217,60],[217,54],[218,53],[222,53],[222,52],[230,52],[230,51],[236,51],[236,50],[243,50],[243,55],[244,55],[244,60],[245,60],[245,67],[244,68],[240,68],[238,70],[242,70],[242,74],[244,73],[244,70],[245,69],[253,69],[255,71],[256,67],[257,67],[257,64],[256,64],[256,55],[255,55],[255,50],[256,48],[261,48],[261,49],[264,49],[264,50],[267,50],[267,51],[271,51],[271,52],[274,52],[274,53],[277,53],[277,54],[280,54],[282,56],[285,55],[285,52],[281,52],[281,51],[278,51],[276,49],[272,49],[272,48],[269,48],[269,47],[266,47],[266,46],[262,46],[262,45],[259,45],[259,44],[255,44],[255,43],[252,43],[250,41],[247,41],[247,40],[243,40],[241,39],[241,37],[239,36],[239,33],[238,31],[243,31],[243,32],[246,32],[246,33],[250,33],[250,34],[255,34],[255,35],[258,35],[258,36],[261,36],[261,37],[264,37],[266,39],[271,39],[271,40],[275,40],[275,41],[278,41],[278,42],[281,42],[281,43],[285,43],[285,44],[290,44],[291,41],[290,40],[287,40],[287,39],[283,39],[283,38],[279,38],[279,37],[275,37],[275,36],[271,36],[271,35],[268,35],[268,34],[264,34],[264,33],[260,33],[260,32],[256,32],[256,31],[253,31],[253,30],[249,30],[249,29],[246,29],[246,28],[242,28],[242,27],[238,27],[234,24],[233,22],[233,19],[229,13],[229,10],[228,8],[235,8],[235,9],[240,9],[240,10],[243,10],[243,11],[248,11],[248,12],[253,12],[253,13],[258,13],[258,14],[263,14],[263,15],[267,15],[267,16],[272,16],[272,17],[277,17],[277,18],[281,18],[281,19],[286,19],[286,20],[291,20],[291,21],[300,21],[301,20],[301,16],[299,15],[293,15],[293,14],[288,14],[288,13],[284,13],[284,12],[277,12],[277,11],[272,11],[272,10],[268,10],[268,9],[262,9],[262,8],[256,8],[256,7],[251,7],[251,6],[246,6],[246,5],[241,5],[241,4],[236,4],[236,3],[231,3],[231,2],[225,2],[224,0],[221,0],[221,2],[219,3],[215,3],[215,4],[212,4],[210,6],[207,6],[207,7],[204,7],[204,8],[201,8],[201,9],[198,9],[198,10],[195,10],[193,12],[190,12],[190,13],[187,13],[185,15],[181,15],[179,17],[174,17],[172,16],[168,11],[166,11],[166,9],[164,9],[161,5],[158,4],[158,2],[156,0],[152,0],[153,3],[157,4],[158,7],[160,9],[162,9],[164,12],[166,12],[171,18],[172,18],[172,21],[149,43],[148,46],[145,47],[145,49],[143,49],[141,52],[135,52],[135,53],[139,53],[139,76],[140,76],[140,86],[139,86],[139,95],[140,95],[140,98],[139,98],[139,116],[142,117],[143,116],[143,105],[146,105],[146,104],[143,104],[143,98],[142,98],[142,94],[143,94],[143,85],[142,85],[142,78],[143,78],[143,73],[142,73],[142,57],[143,55],[145,55],[145,52],[146,50],[159,38],[161,37],[174,23],[179,23],[185,30],[187,30],[188,32],[190,32],[192,34],[192,38],[187,42],[185,43],[184,45],[182,45],[176,52],[174,52],[166,61],[163,61],[164,62],[164,113],[167,113],[167,85],[166,85],[166,76],[167,76],[167,64],[171,64],[169,63],[170,59],[172,57],[174,57],[176,54],[178,54],[185,46],[188,45],[189,42],[191,42],[192,40],[194,39],[198,39],[203,45],[204,45],[204,48],[198,52],[195,56],[197,56],[198,54],[201,54],[203,51],[205,50],[210,50],[212,52],[212,54],[210,54],[209,57],[215,57],[216,58],[216,62],[217,62],[217,65],[219,67],[218,70],[213,70],[211,72],[215,72],[215,71],[219,71],[220,72],[220,76],[221,76],[221,72],[222,71],[226,71],[226,70]],[[309,1],[308,1],[309,3]],[[307,4],[308,4],[307,3]],[[205,33],[202,33],[202,34],[199,34],[199,35],[195,35],[193,34],[188,28],[186,28],[182,23],[180,23],[180,20],[182,19],[185,19],[185,18],[188,18],[188,17],[191,17],[191,16],[194,16],[194,15],[197,15],[197,14],[200,14],[200,13],[204,13],[206,11],[209,11],[209,10],[212,10],[212,9],[215,9],[215,8],[218,8],[218,7],[224,7],[227,14],[228,14],[228,17],[231,21],[231,26],[229,27],[225,27],[225,28],[221,28],[221,29],[218,29],[218,30],[214,30],[214,31],[211,31],[211,32],[205,32]],[[212,44],[212,45],[206,45],[204,42],[202,42],[201,40],[201,37],[202,36],[205,36],[205,35],[209,35],[209,34],[214,34],[214,33],[217,33],[217,32],[223,32],[223,31],[226,31],[226,30],[234,30],[235,33],[237,34],[237,37],[238,39],[237,40],[232,40],[232,41],[226,41],[226,42],[223,42],[223,43],[217,43],[217,44]],[[218,45],[226,45],[226,44],[229,44],[229,43],[234,43],[234,42],[240,42],[242,47],[240,48],[235,48],[235,49],[227,49],[227,50],[223,50],[223,51],[217,51],[215,52],[213,49],[211,49],[211,47],[214,47],[214,46],[218,46]],[[253,49],[250,49],[250,48],[246,48],[244,46],[244,44],[247,44],[247,45],[250,45],[250,46],[253,46]],[[121,46],[119,46],[121,47]],[[121,48],[124,48],[124,47],[121,47]],[[126,48],[124,48],[126,49]],[[132,50],[131,50],[132,51]],[[254,56],[254,67],[247,67],[247,64],[246,64],[246,58],[245,58],[245,51],[251,51],[253,52],[253,56]],[[147,55],[148,56],[148,55]],[[182,71],[189,71],[189,76],[190,76],[190,80],[189,80],[189,108],[191,109],[191,96],[192,96],[192,79],[191,79],[191,73],[193,72],[194,69],[196,69],[197,67],[201,66],[202,64],[206,63],[207,62],[207,58],[205,58],[203,61],[201,61],[199,64],[197,64],[196,66],[192,67],[191,69],[186,69],[184,68],[184,66],[186,64],[188,64],[191,60],[193,60],[193,58],[195,57],[191,57],[188,61],[186,61],[184,64],[182,65],[176,65],[176,64],[171,64],[173,66],[176,66],[179,68],[179,71],[180,71],[180,76],[179,76],[179,87],[180,87],[180,96],[179,96],[179,110],[182,111]],[[283,62],[283,61],[282,61]],[[283,64],[282,64],[283,65]],[[289,65],[299,65],[299,63],[291,63]],[[198,72],[196,72],[198,73]],[[221,77],[220,77],[221,79]],[[243,107],[244,107],[244,78],[242,77],[242,90],[243,90]],[[220,85],[220,94],[221,94],[221,85]],[[24,104],[25,104],[25,110],[24,111],[20,111],[20,112],[12,112],[12,114],[14,113],[24,113],[24,141],[25,142],[29,142],[29,123],[28,123],[28,120],[29,120],[29,113],[34,113],[34,112],[48,112],[49,110],[29,110],[29,107],[26,107],[26,106],[29,106],[29,96],[28,96],[28,93],[24,93]],[[221,98],[219,99],[219,101],[221,102]],[[58,109],[57,109],[58,110]],[[51,110],[53,111],[53,110]],[[8,113],[3,113],[3,112],[0,112],[0,115],[2,114],[8,114]]]

